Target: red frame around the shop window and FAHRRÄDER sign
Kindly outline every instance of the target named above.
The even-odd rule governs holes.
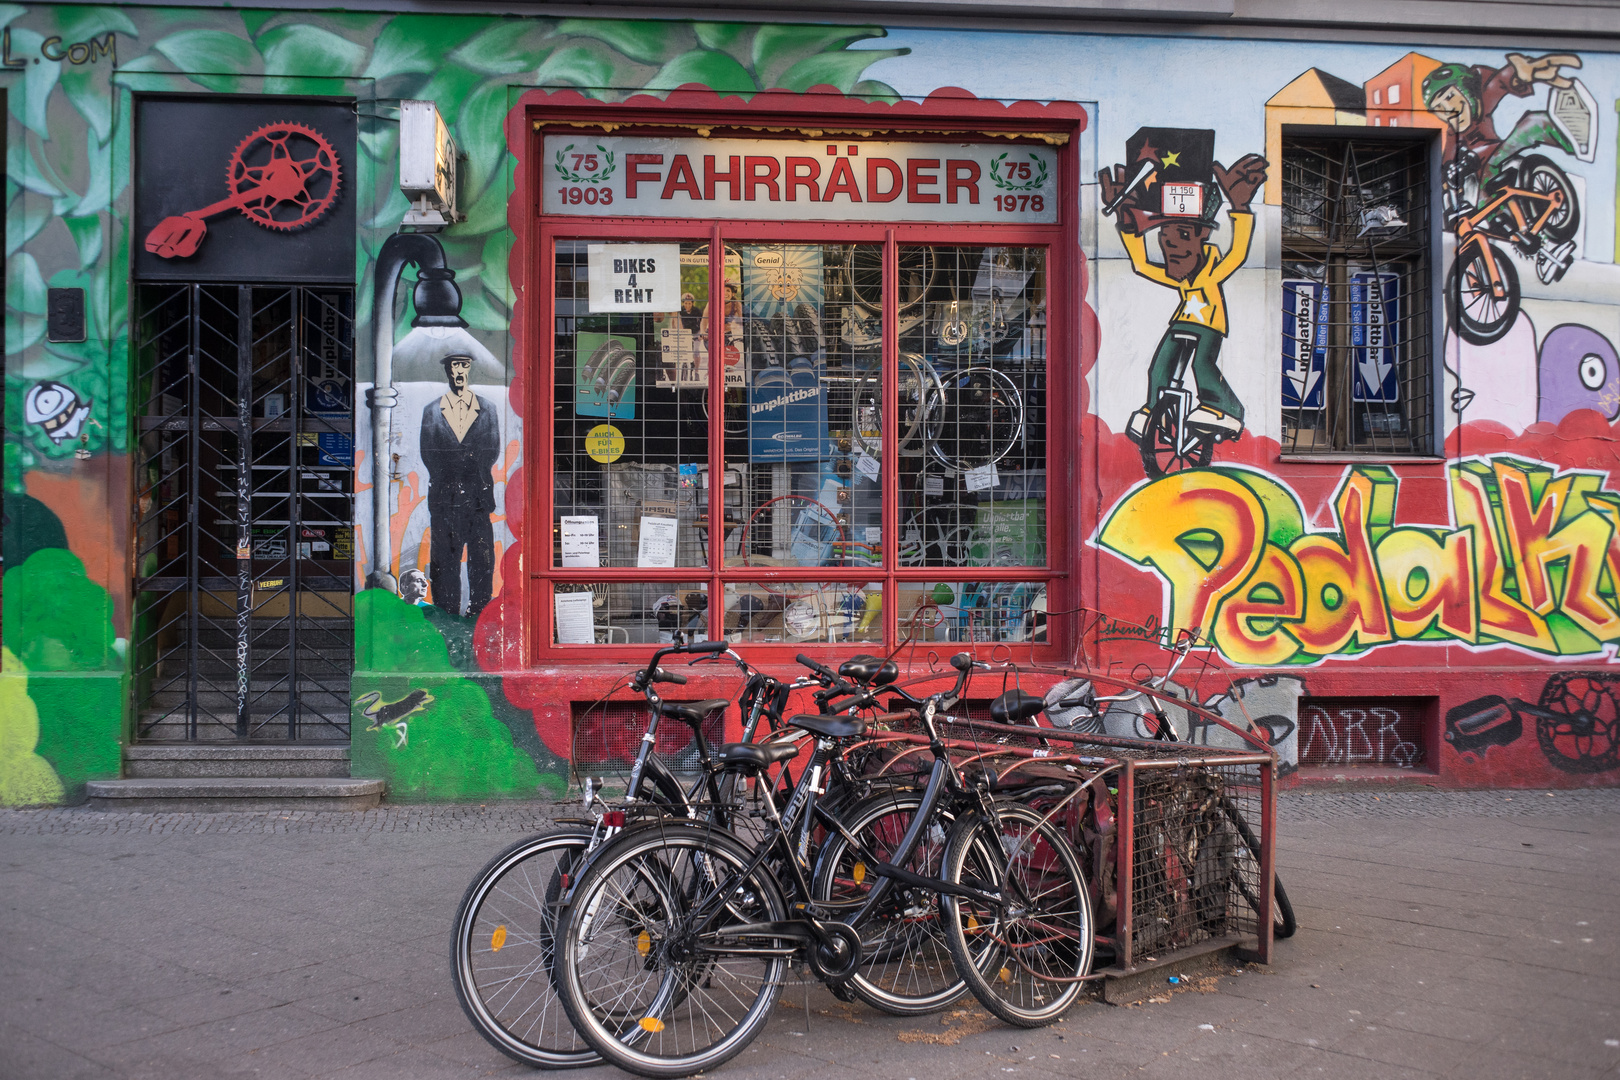
[[[910,581],[972,580],[972,581],[1042,581],[1047,585],[1050,612],[1071,610],[1079,606],[1081,538],[1076,523],[1081,512],[1081,455],[1063,453],[1063,449],[1079,449],[1081,423],[1081,251],[1079,251],[1079,133],[1085,126],[1085,113],[1079,105],[1059,102],[1038,105],[1019,102],[1003,105],[982,102],[962,91],[940,92],[927,102],[870,104],[844,99],[826,87],[810,94],[760,94],[747,105],[737,99],[721,100],[710,91],[677,91],[666,100],[632,99],[622,105],[593,102],[573,92],[533,92],[514,110],[520,128],[512,131],[512,142],[522,146],[518,181],[514,201],[520,207],[514,217],[517,241],[522,251],[514,253],[514,266],[535,288],[515,282],[520,311],[515,322],[520,327],[515,351],[520,368],[518,382],[523,387],[523,416],[526,418],[525,460],[530,463],[525,484],[526,512],[526,565],[522,588],[526,591],[523,609],[528,612],[526,649],[531,664],[596,664],[642,661],[650,644],[556,644],[552,641],[554,607],[552,583],[556,581],[669,581],[698,583],[710,596],[724,596],[726,581],[760,581],[791,578],[802,581],[881,581],[885,589],[883,641],[894,648],[901,641],[896,589]],[[883,223],[883,222],[778,222],[761,219],[650,219],[650,217],[585,217],[544,215],[541,185],[546,183],[541,141],[548,133],[578,131],[580,126],[612,123],[617,134],[671,134],[690,133],[698,128],[714,134],[748,138],[773,138],[758,131],[761,115],[782,121],[791,128],[800,120],[805,128],[823,131],[842,113],[862,128],[860,134],[839,134],[839,139],[901,138],[907,141],[938,141],[941,144],[962,141],[987,141],[1004,136],[1019,139],[1066,136],[1058,146],[1058,220],[1051,225],[991,225],[991,223]],[[737,131],[726,128],[735,126]],[[773,123],[773,126],[776,126]],[[878,128],[878,130],[872,130]],[[987,136],[987,133],[993,133]],[[787,130],[774,138],[804,138],[800,131]],[[816,136],[820,138],[820,136]],[[525,168],[522,162],[533,162]],[[893,291],[896,277],[896,251],[901,244],[1011,244],[1040,246],[1047,251],[1047,565],[1045,567],[899,567],[896,546],[885,546],[881,568],[726,568],[723,565],[724,529],[710,529],[708,565],[651,570],[643,567],[562,568],[552,563],[552,497],[554,497],[554,434],[551,419],[556,406],[556,295],[552,267],[556,244],[575,240],[679,240],[706,243],[710,249],[710,274],[721,279],[721,261],[727,246],[744,243],[881,243],[885,246],[885,342],[881,355],[893,359],[899,353],[897,313]],[[525,254],[526,253],[526,254]],[[714,321],[710,334],[710,350],[719,356],[721,321]],[[888,366],[885,368],[889,369]],[[723,364],[710,366],[710,395],[723,395]],[[893,393],[885,395],[883,440],[886,463],[897,461],[894,447],[897,405]],[[721,461],[724,452],[723,426],[710,431],[708,460]],[[881,528],[886,538],[899,534],[897,521],[897,471],[886,465],[883,471]],[[719,484],[708,489],[708,518],[723,520],[724,491]],[[724,633],[723,604],[710,606],[710,633]],[[875,643],[867,643],[868,648]],[[940,643],[919,643],[935,648]],[[1011,656],[1021,659],[1063,659],[1077,648],[1074,623],[1068,619],[1048,619],[1047,641],[998,643]],[[779,653],[782,659],[794,653],[812,656],[839,656],[854,643],[748,643],[755,649]],[[770,653],[768,653],[770,654]]]

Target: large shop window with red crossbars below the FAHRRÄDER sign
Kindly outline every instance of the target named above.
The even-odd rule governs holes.
[[[549,648],[1047,640],[1050,249],[816,232],[551,238]]]

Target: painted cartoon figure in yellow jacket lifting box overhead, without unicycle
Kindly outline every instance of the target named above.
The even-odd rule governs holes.
[[[1243,432],[1243,402],[1221,376],[1218,358],[1226,338],[1221,283],[1249,257],[1254,214],[1249,202],[1265,183],[1267,162],[1249,154],[1230,170],[1215,160],[1215,133],[1186,128],[1139,128],[1126,141],[1126,164],[1097,173],[1103,212],[1115,214],[1119,240],[1137,275],[1176,290],[1179,303],[1153,350],[1147,402],[1131,415],[1126,434],[1142,442],[1160,393],[1191,371],[1197,408],[1189,429],[1225,439]],[[1231,241],[1225,254],[1209,243],[1221,202],[1230,206]],[[1158,233],[1163,266],[1147,257],[1147,233]],[[1191,351],[1191,358],[1187,353]]]

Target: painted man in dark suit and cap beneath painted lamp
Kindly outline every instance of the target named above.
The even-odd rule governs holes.
[[[501,419],[467,379],[471,356],[446,356],[449,390],[421,411],[421,463],[428,466],[428,518],[433,525],[429,578],[433,602],[462,614],[462,551],[467,551],[467,614],[489,602],[496,570],[496,508],[491,470],[501,460]]]

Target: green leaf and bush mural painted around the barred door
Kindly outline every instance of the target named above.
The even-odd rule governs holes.
[[[886,87],[860,78],[872,63],[896,55],[849,50],[852,42],[881,37],[875,28],[656,19],[0,5],[0,26],[11,29],[11,55],[29,58],[40,55],[49,37],[66,45],[113,34],[118,70],[113,79],[110,53],[78,65],[42,58],[11,73],[6,84],[16,120],[5,162],[5,489],[15,523],[5,538],[3,635],[15,656],[6,656],[0,677],[0,717],[8,717],[0,724],[0,801],[6,805],[73,798],[86,779],[118,772],[126,683],[110,599],[66,551],[55,515],[26,491],[36,471],[60,478],[83,470],[71,474],[126,483],[122,461],[92,466],[76,460],[76,452],[100,457],[131,449],[128,266],[130,246],[139,243],[126,217],[131,87],[361,99],[360,152],[347,173],[361,220],[358,342],[371,338],[376,317],[374,253],[407,209],[397,189],[395,105],[399,99],[436,100],[468,154],[462,175],[467,220],[441,240],[460,274],[465,317],[496,356],[507,356],[507,199],[515,162],[504,121],[518,94],[535,86],[578,87],[622,100],[684,83],[727,94],[813,83],[881,94]],[[86,290],[86,342],[44,340],[47,285]],[[400,314],[408,317],[408,311]],[[58,445],[39,426],[23,423],[23,400],[40,379],[58,379],[89,403],[96,423],[84,427],[87,442]],[[353,691],[376,690],[390,701],[413,688],[434,695],[407,722],[405,740],[394,729],[366,732],[364,719],[355,722],[356,774],[387,776],[395,797],[405,798],[528,795],[561,785],[567,766],[535,737],[533,719],[505,699],[497,677],[476,672],[470,625],[433,622],[421,609],[379,593],[356,596],[355,610],[360,675]],[[361,685],[364,678],[371,685]],[[39,732],[24,750],[28,709]]]

